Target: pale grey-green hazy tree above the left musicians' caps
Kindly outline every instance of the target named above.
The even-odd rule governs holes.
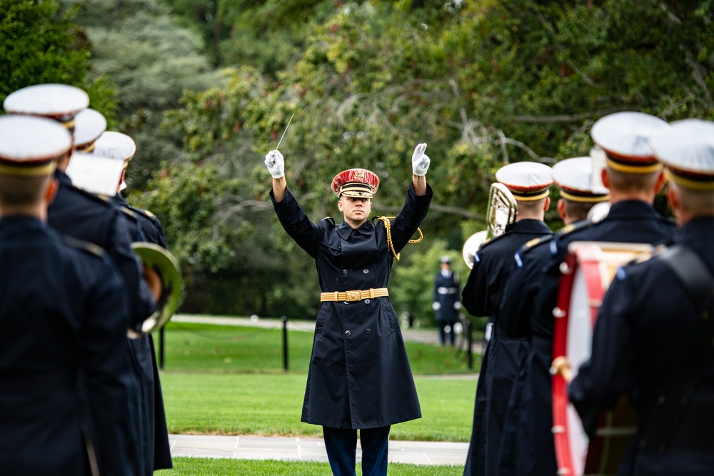
[[[118,121],[109,129],[136,141],[127,183],[130,189],[143,188],[162,161],[185,158],[181,138],[161,129],[163,112],[178,107],[184,91],[214,86],[220,76],[203,55],[200,37],[181,27],[157,0],[89,0],[75,9],[91,41],[90,76],[116,84]]]

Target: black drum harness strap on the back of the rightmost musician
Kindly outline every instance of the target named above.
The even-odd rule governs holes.
[[[693,410],[690,408],[691,397],[714,358],[714,300],[711,298],[714,283],[709,270],[693,250],[677,245],[658,255],[657,259],[680,280],[701,319],[678,355],[670,361],[660,395],[647,420],[640,422],[640,447],[664,452],[672,445],[675,435],[680,434],[690,435],[682,442],[687,446],[688,442],[698,440],[710,447],[710,440],[714,438],[711,422],[697,415],[691,415],[691,418],[686,415],[688,410]]]

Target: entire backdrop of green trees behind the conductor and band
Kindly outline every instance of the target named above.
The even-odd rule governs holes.
[[[315,314],[313,262],[278,225],[263,165],[293,113],[281,152],[313,221],[339,218],[329,183],[353,166],[382,180],[373,215],[395,215],[428,143],[425,239],[390,283],[395,308],[428,321],[438,256],[461,265],[499,167],[587,155],[613,111],[714,118],[712,4],[0,0],[0,92],[68,82],[106,104],[138,145],[129,201],[164,222],[191,312]]]

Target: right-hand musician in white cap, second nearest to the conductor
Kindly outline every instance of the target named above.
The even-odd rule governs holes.
[[[597,174],[593,178],[593,173]],[[590,157],[566,158],[553,166],[553,180],[560,189],[558,215],[565,228],[555,235],[529,241],[516,253],[516,268],[503,291],[501,312],[511,319],[503,327],[511,335],[528,335],[531,350],[508,401],[501,440],[501,475],[552,476],[558,472],[553,445],[550,361],[553,355],[553,316],[531,315],[525,306],[538,293],[538,275],[550,258],[550,242],[574,228],[588,226],[588,212],[605,203],[607,188],[598,186],[600,169]],[[528,321],[533,317],[532,321]]]

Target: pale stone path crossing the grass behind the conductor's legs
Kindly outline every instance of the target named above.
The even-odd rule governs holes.
[[[172,456],[327,462],[322,438],[169,435]],[[358,442],[357,462],[361,461]],[[389,462],[463,465],[468,443],[390,441]]]

